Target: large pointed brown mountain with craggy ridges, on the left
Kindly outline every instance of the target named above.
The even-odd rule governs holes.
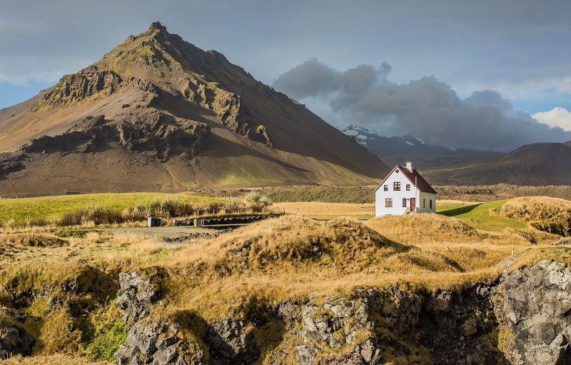
[[[0,110],[0,194],[376,184],[388,166],[216,51],[153,23]]]

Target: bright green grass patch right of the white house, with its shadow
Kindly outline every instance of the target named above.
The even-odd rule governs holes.
[[[507,200],[498,200],[470,205],[448,204],[440,206],[438,214],[453,216],[465,224],[473,226],[475,229],[483,229],[484,231],[525,229],[527,227],[525,223],[500,216],[500,210],[506,201]]]

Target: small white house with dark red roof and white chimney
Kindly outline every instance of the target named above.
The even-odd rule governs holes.
[[[375,216],[435,212],[436,191],[411,162],[395,166],[375,189]]]

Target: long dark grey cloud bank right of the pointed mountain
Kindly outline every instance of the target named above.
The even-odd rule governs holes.
[[[309,106],[325,100],[328,116],[335,116],[338,125],[358,124],[387,136],[410,134],[451,149],[511,151],[571,139],[571,132],[540,123],[497,91],[475,91],[460,99],[435,76],[396,84],[388,79],[390,70],[383,63],[341,72],[310,59],[282,74],[273,86]]]

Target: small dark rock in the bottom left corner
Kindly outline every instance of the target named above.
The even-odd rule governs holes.
[[[6,319],[2,321],[1,314]],[[0,359],[14,355],[30,356],[36,339],[21,328],[26,315],[16,309],[0,309]]]

